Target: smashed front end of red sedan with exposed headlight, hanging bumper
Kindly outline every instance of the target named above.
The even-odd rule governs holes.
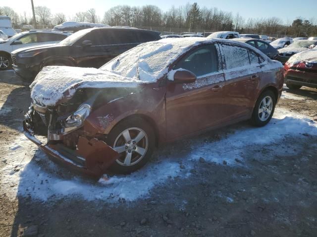
[[[109,99],[102,95],[102,91],[78,90],[69,101],[53,107],[33,101],[23,121],[24,134],[53,161],[99,178],[119,157],[106,144],[106,134],[86,121],[93,109]],[[47,142],[36,135],[46,136]]]

